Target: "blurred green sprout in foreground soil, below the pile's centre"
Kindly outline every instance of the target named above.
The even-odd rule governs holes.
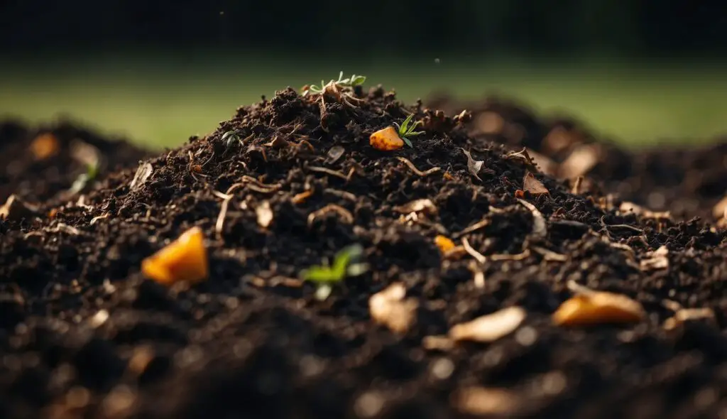
[[[347,276],[359,276],[368,270],[366,263],[359,262],[362,255],[364,247],[361,244],[352,244],[336,253],[333,265],[329,265],[326,260],[321,266],[311,266],[303,270],[300,278],[316,283],[316,298],[325,300],[331,295],[334,284],[342,282]]]

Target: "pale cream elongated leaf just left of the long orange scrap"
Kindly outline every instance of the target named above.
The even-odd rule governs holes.
[[[449,330],[449,337],[456,341],[494,342],[515,332],[526,316],[527,312],[522,307],[502,308],[470,322],[455,325]]]

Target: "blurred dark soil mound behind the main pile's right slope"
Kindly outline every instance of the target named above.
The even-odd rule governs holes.
[[[568,117],[539,118],[527,106],[506,97],[462,102],[436,95],[427,104],[448,113],[467,109],[473,113],[470,135],[504,143],[513,149],[527,147],[556,163],[584,144],[597,144],[598,163],[587,171],[602,191],[617,193],[625,201],[650,210],[670,210],[677,218],[698,216],[714,221],[712,207],[727,196],[727,139],[683,147],[662,144],[629,150],[600,137],[582,121]]]

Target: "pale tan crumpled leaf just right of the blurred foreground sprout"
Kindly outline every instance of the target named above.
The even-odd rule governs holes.
[[[417,300],[405,299],[406,287],[397,282],[371,295],[369,311],[374,322],[396,333],[406,333],[417,320]]]

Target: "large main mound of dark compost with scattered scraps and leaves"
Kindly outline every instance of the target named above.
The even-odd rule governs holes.
[[[469,113],[346,92],[284,89],[180,148],[130,153],[48,210],[6,205],[4,417],[727,409],[723,229],[571,193],[528,153],[469,135]],[[412,112],[411,148],[369,144]],[[10,184],[47,197],[47,182]],[[142,273],[190,231],[206,280]],[[327,298],[300,279],[355,244],[367,266]]]

